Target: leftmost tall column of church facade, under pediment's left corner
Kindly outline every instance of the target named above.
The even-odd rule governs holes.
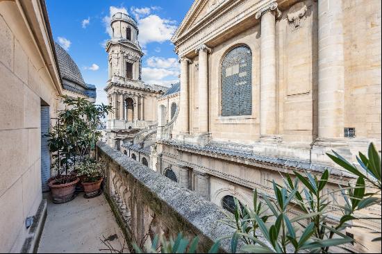
[[[178,117],[181,122],[181,133],[190,133],[190,112],[189,112],[189,97],[188,97],[188,64],[191,60],[188,58],[181,58],[181,101],[178,112]]]

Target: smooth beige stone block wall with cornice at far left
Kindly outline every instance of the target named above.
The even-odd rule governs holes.
[[[60,81],[40,1],[0,1],[0,252],[19,252],[42,201],[41,105]],[[26,22],[28,21],[28,22]]]

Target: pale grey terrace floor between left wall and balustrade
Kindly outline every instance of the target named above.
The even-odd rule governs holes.
[[[38,253],[110,253],[101,241],[105,238],[115,250],[122,250],[122,231],[103,194],[87,199],[80,193],[59,205],[51,202],[49,193],[44,198],[48,201],[47,220]]]

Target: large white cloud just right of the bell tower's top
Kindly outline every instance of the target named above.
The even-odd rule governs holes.
[[[176,31],[174,20],[162,19],[158,15],[149,15],[138,20],[140,35],[138,40],[142,46],[150,42],[165,42],[170,40]]]

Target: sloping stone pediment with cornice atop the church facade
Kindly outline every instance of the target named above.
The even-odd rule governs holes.
[[[283,2],[285,1],[194,1],[181,26],[172,37],[175,51],[178,56],[192,57],[200,44],[208,44],[208,46],[219,44],[226,40],[227,34],[232,37],[254,26],[258,22],[256,14],[272,9],[274,6],[281,8]]]

